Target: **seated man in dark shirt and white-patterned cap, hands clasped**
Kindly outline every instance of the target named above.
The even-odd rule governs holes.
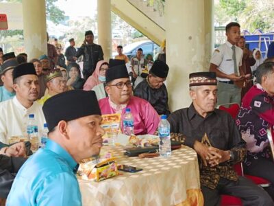
[[[261,187],[238,176],[232,165],[245,157],[245,141],[234,119],[215,109],[216,73],[190,73],[189,108],[169,115],[171,133],[186,136],[185,144],[199,155],[201,190],[205,205],[219,205],[221,194],[237,196],[243,205],[274,205]]]

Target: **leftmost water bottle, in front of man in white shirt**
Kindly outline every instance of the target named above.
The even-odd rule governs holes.
[[[27,139],[32,143],[32,152],[36,152],[39,148],[39,139],[38,126],[34,119],[34,114],[29,115],[29,121],[27,122]]]

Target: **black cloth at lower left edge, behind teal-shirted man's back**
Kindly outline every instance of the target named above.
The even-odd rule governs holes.
[[[7,198],[15,175],[27,159],[0,155],[0,198]]]

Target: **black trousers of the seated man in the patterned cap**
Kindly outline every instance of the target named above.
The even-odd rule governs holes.
[[[251,180],[239,176],[239,181],[229,181],[221,178],[215,190],[201,187],[205,206],[220,205],[221,194],[237,196],[242,199],[243,205],[271,206],[274,205],[271,196],[262,187],[254,184]]]

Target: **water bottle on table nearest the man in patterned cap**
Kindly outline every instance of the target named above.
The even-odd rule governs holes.
[[[169,157],[171,156],[171,126],[166,120],[166,115],[161,116],[161,121],[158,126],[159,133],[159,153],[160,157]]]

